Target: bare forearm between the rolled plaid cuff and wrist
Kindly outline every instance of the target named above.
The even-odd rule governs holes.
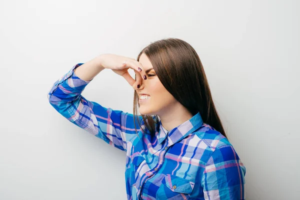
[[[89,81],[103,69],[104,67],[101,65],[101,55],[98,55],[75,68],[74,73],[82,80]]]

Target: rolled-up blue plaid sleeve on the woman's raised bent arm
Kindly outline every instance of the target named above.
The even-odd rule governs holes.
[[[74,69],[81,64],[75,64],[54,82],[47,94],[50,104],[73,124],[126,151],[127,141],[136,133],[133,114],[106,108],[84,98],[81,93],[92,79],[85,81],[76,76]],[[137,120],[141,119],[141,116],[135,118],[137,131]]]

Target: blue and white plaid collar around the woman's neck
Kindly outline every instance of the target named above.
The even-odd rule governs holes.
[[[161,124],[159,120],[159,132],[157,134],[157,141],[160,144],[167,136],[169,137],[168,146],[176,143],[177,141],[184,138],[186,135],[196,130],[203,124],[202,117],[199,112],[193,115],[190,119],[184,121],[177,127],[172,128],[170,131],[167,131]]]

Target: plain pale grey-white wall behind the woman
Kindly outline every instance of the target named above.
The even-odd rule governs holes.
[[[298,10],[297,0],[0,1],[0,199],[125,199],[125,153],[62,117],[47,92],[76,63],[136,58],[167,37],[200,56],[246,198],[299,199]],[[82,95],[132,113],[133,88],[109,69]]]

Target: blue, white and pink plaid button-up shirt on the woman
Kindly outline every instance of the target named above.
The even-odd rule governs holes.
[[[127,199],[245,199],[244,165],[229,141],[204,123],[199,112],[169,132],[158,120],[155,135],[147,129],[136,133],[133,114],[81,95],[91,81],[73,73],[81,64],[54,82],[49,102],[75,125],[126,151]],[[145,128],[141,116],[138,120]]]

